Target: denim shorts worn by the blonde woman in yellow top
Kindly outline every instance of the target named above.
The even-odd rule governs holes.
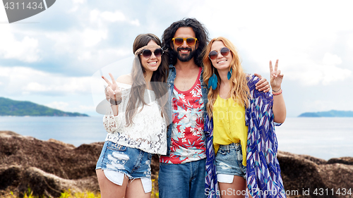
[[[246,179],[240,143],[220,145],[216,155],[216,173],[218,182],[232,183],[233,175]]]

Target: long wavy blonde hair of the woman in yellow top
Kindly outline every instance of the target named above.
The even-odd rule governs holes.
[[[246,80],[246,73],[244,73],[243,68],[241,67],[241,61],[237,52],[237,48],[225,37],[217,37],[210,41],[210,43],[205,48],[205,56],[203,56],[203,82],[208,85],[208,80],[215,73],[217,76],[217,88],[215,90],[210,89],[208,92],[208,104],[207,104],[207,112],[208,116],[213,117],[213,104],[217,99],[217,95],[220,92],[220,75],[217,72],[217,69],[212,65],[210,58],[208,58],[208,54],[211,51],[212,44],[215,41],[221,41],[225,44],[225,47],[230,49],[230,53],[232,53],[232,62],[230,63],[230,67],[232,68],[232,77],[229,79],[229,83],[231,84],[230,96],[237,102],[240,106],[249,106],[249,97],[250,91]],[[230,68],[229,68],[230,70]]]

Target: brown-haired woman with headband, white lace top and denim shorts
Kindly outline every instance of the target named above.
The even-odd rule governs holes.
[[[112,104],[104,116],[107,138],[97,161],[102,197],[150,197],[152,154],[167,153],[167,57],[152,34],[133,43],[131,74],[107,82]]]

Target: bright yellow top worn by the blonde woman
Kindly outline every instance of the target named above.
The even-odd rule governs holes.
[[[230,97],[222,99],[217,96],[213,104],[213,147],[217,154],[220,145],[241,144],[243,165],[246,166],[246,140],[248,127],[245,125],[245,107]]]

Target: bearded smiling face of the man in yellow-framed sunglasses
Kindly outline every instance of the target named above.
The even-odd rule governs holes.
[[[195,35],[195,32],[193,32],[193,28],[191,28],[191,27],[179,27],[177,32],[175,32],[175,34],[174,34],[174,38],[175,37],[181,37],[181,38],[193,37],[194,38],[194,37],[196,37],[196,35]],[[171,46],[172,46],[173,51],[178,54],[177,57],[178,57],[179,61],[187,62],[193,58],[193,56],[195,54],[195,50],[198,47],[198,43],[196,42],[196,44],[194,44],[193,46],[189,46],[184,41],[183,44],[177,46],[176,44],[174,44],[174,42],[172,42]]]

